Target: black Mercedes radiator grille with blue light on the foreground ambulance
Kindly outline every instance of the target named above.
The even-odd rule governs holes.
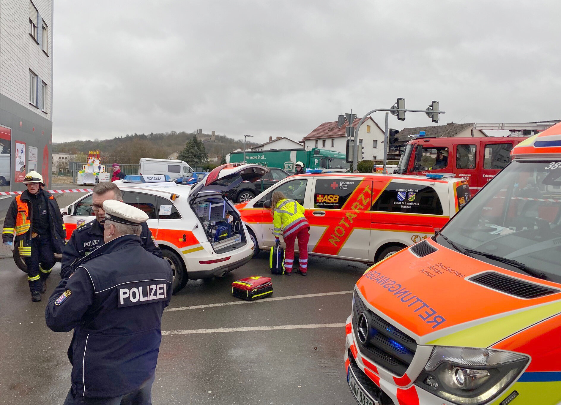
[[[369,310],[356,291],[354,296],[352,327],[360,352],[370,361],[402,376],[415,356],[415,339]]]

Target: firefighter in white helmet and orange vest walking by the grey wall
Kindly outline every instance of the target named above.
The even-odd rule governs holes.
[[[31,171],[24,178],[27,190],[13,199],[4,220],[2,242],[15,245],[27,265],[31,301],[41,301],[54,254],[61,253],[66,240],[65,224],[57,200],[47,191],[43,176]]]

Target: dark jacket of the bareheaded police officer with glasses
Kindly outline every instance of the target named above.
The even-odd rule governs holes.
[[[97,219],[85,223],[72,232],[62,252],[61,278],[70,277],[72,271],[79,266],[82,257],[89,255],[103,243],[103,227]],[[142,223],[142,231],[140,232],[140,245],[150,253],[162,257],[162,250],[154,242],[152,232],[145,222]]]

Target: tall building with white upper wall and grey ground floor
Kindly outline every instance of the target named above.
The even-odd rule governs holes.
[[[53,0],[0,0],[0,142],[14,191],[29,167],[50,182],[52,49]]]

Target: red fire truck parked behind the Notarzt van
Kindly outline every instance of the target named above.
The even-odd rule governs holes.
[[[511,161],[512,148],[525,139],[417,137],[405,145],[394,173],[454,173],[468,182],[473,195]]]

